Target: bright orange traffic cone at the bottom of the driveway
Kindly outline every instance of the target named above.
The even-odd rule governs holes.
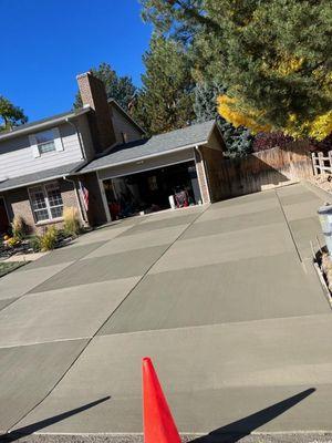
[[[143,359],[144,443],[180,443],[158,377],[148,357]]]

